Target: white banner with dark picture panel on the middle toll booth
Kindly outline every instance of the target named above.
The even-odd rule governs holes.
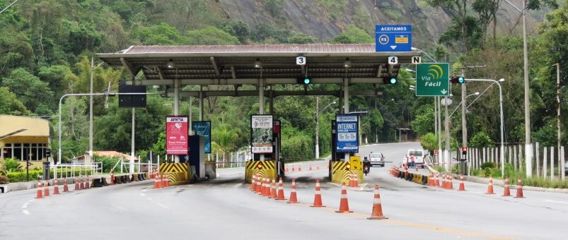
[[[272,152],[272,115],[253,115],[251,123],[251,152]]]

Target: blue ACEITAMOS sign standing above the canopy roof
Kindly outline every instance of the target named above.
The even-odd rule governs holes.
[[[411,52],[412,25],[376,25],[376,52]]]

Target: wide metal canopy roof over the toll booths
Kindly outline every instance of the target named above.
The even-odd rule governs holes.
[[[124,66],[132,75],[143,71],[142,85],[267,84],[295,83],[308,77],[312,83],[382,83],[396,76],[400,64],[410,64],[422,52],[375,52],[375,44],[279,44],[231,46],[132,46],[117,53],[96,54],[110,66]],[[296,56],[306,56],[306,66],[296,65]],[[397,65],[387,64],[398,56]],[[345,61],[350,66],[344,66]],[[168,68],[168,62],[173,67]],[[255,67],[260,61],[262,68]],[[270,81],[272,80],[272,81]]]

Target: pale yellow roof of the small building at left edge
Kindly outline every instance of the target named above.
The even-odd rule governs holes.
[[[12,136],[49,137],[50,122],[29,116],[0,115],[0,139]]]

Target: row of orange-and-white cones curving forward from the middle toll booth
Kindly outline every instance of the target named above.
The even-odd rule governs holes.
[[[270,184],[270,179],[266,177],[262,177],[259,174],[253,174],[253,180],[250,183],[249,190],[257,193],[261,196],[266,196],[268,198],[273,198],[275,200],[286,200],[284,198],[284,188],[282,186],[282,178],[278,181],[278,189],[276,190],[276,180],[272,179],[272,184]],[[291,191],[290,191],[290,198],[286,203],[299,203],[298,196],[296,195],[296,180],[292,179],[291,184]],[[312,208],[323,208],[322,197],[321,197],[321,188],[320,188],[320,181],[315,181],[315,193],[313,196],[313,204],[310,205]],[[340,200],[340,209],[335,212],[353,212],[349,210],[349,200],[347,199],[347,187],[345,183],[342,183],[341,186],[341,200]],[[386,219],[383,215],[383,208],[381,205],[381,196],[378,193],[378,184],[375,186],[375,195],[373,200],[373,210],[371,212],[371,216],[368,217],[369,220],[381,220]]]

